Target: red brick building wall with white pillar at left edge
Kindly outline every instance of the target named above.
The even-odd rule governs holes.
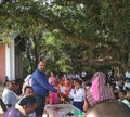
[[[17,43],[20,38],[11,39],[8,44],[0,44],[0,83],[5,76],[9,80],[23,78],[24,43]]]

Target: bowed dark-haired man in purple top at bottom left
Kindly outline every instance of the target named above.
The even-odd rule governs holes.
[[[32,113],[37,108],[37,101],[34,95],[24,98],[15,107],[9,108],[3,117],[23,117]]]

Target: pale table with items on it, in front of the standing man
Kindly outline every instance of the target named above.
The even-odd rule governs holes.
[[[48,117],[84,117],[84,113],[72,104],[47,104]]]

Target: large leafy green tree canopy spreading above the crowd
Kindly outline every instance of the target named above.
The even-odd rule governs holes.
[[[62,52],[69,56],[69,64],[127,68],[130,65],[129,5],[129,0],[9,1],[0,6],[0,31],[17,30],[32,39],[37,60],[46,52],[47,46],[41,49],[38,44],[44,39],[44,32],[53,34],[57,29],[62,34],[57,39],[64,41],[62,47],[67,47]]]

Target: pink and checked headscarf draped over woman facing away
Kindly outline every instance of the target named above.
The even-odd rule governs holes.
[[[114,99],[114,94],[106,86],[106,75],[103,72],[96,72],[92,78],[92,86],[87,91],[87,101],[90,106],[93,106],[107,99]]]

